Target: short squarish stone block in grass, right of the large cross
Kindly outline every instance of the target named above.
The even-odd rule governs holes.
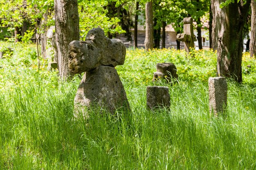
[[[154,108],[170,107],[169,88],[163,86],[148,86],[147,87],[147,107],[153,110]]]

